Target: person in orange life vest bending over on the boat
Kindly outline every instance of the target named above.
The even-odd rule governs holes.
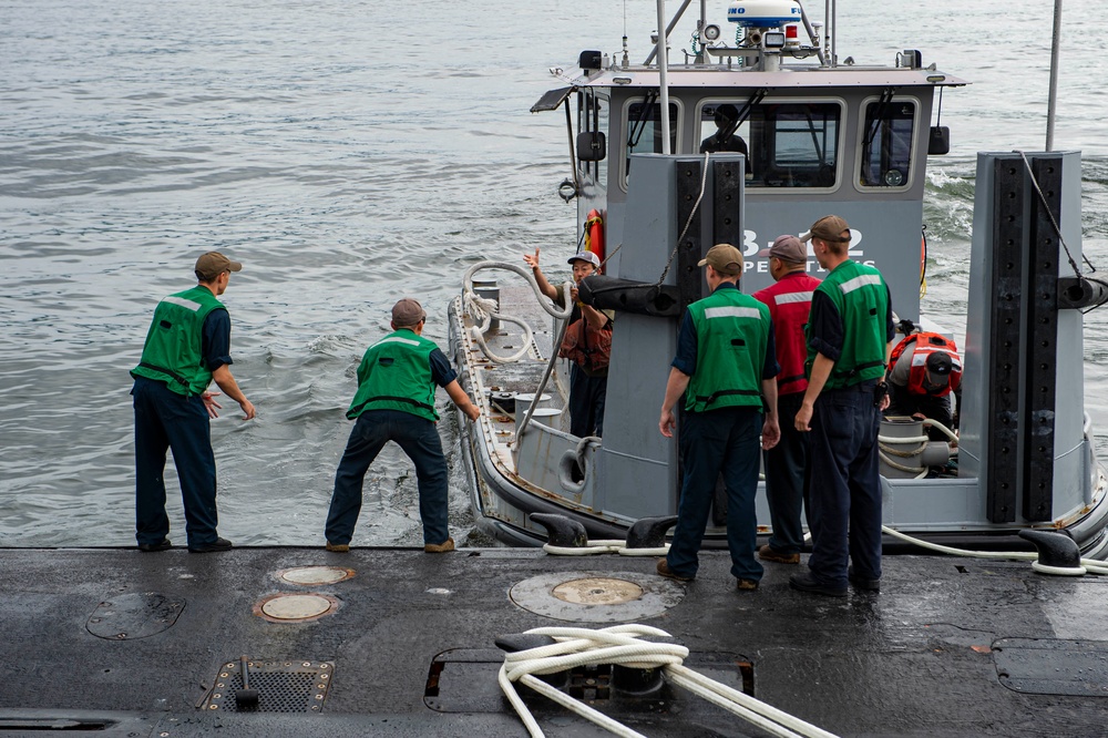
[[[889,358],[889,409],[886,416],[930,418],[948,429],[957,427],[951,407],[953,393],[962,402],[962,359],[954,341],[938,334],[919,332],[905,336]],[[934,428],[927,430],[933,441],[947,435]]]

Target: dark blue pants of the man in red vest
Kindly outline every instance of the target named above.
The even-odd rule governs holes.
[[[766,451],[766,499],[773,533],[769,547],[778,553],[800,553],[804,531],[800,515],[808,496],[809,445],[811,433],[798,431],[793,419],[804,401],[803,392],[777,398],[781,420],[781,440]]]

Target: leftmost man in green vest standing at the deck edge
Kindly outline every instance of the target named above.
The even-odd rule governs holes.
[[[220,406],[209,392],[214,380],[238,402],[245,420],[254,406],[230,373],[230,316],[216,299],[232,271],[243,265],[218,252],[196,259],[197,285],[157,304],[142,358],[131,370],[135,411],[135,540],[143,552],[166,551],[165,454],[173,449],[185,506],[188,551],[227,551],[230,541],[216,532],[215,453],[211,419]]]

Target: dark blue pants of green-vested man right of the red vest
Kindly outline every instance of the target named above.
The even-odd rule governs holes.
[[[847,586],[848,560],[854,574],[881,577],[881,479],[873,382],[823,390],[811,421],[812,576]]]

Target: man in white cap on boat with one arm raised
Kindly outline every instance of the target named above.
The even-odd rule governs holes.
[[[534,256],[524,254],[523,260],[535,275],[538,289],[563,305],[563,295],[547,281],[538,267],[538,249]],[[593,252],[578,252],[568,259],[576,285],[585,277],[598,274],[601,259]],[[608,359],[612,356],[612,325],[615,312],[597,310],[577,299],[577,288],[570,293],[573,314],[558,356],[570,359],[570,432],[578,438],[601,435],[604,432],[604,401],[608,386]]]

